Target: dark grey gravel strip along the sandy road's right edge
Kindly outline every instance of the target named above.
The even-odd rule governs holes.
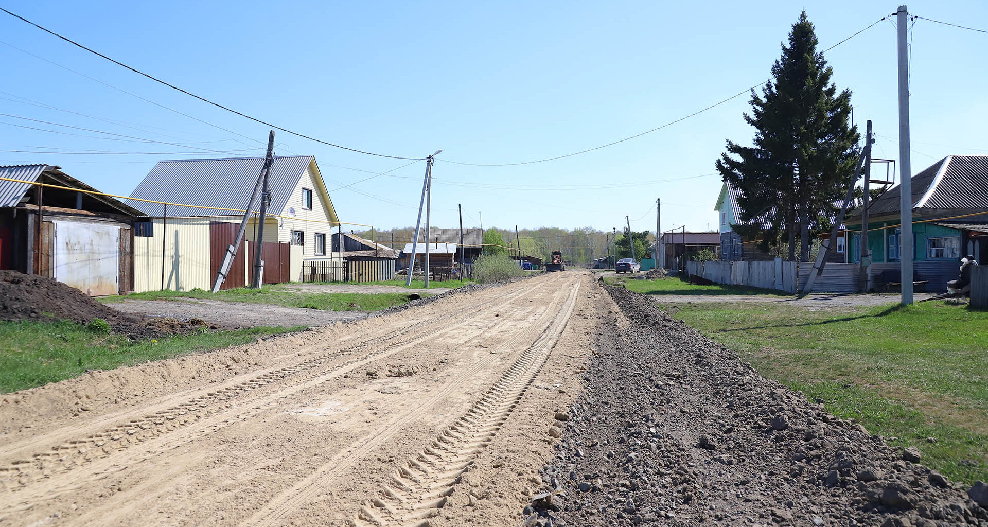
[[[598,336],[587,391],[556,412],[527,525],[988,525],[988,486],[951,483],[829,415],[640,295]],[[980,503],[980,505],[978,504]]]

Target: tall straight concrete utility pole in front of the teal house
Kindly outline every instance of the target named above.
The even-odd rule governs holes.
[[[899,6],[895,13],[899,29],[899,261],[901,262],[902,305],[913,303],[913,182],[909,148],[909,11]]]

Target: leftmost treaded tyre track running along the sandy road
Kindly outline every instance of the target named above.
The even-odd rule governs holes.
[[[541,285],[544,286],[552,282],[556,281],[547,281]],[[145,461],[153,454],[151,451],[156,447],[160,451],[174,448],[176,444],[194,440],[230,423],[242,421],[290,395],[308,390],[333,378],[341,377],[361,366],[414,346],[424,339],[434,338],[437,334],[449,332],[469,322],[472,316],[485,309],[506,307],[527,293],[531,293],[530,288],[522,285],[517,291],[498,295],[454,315],[442,314],[430,317],[383,335],[351,344],[340,351],[266,372],[254,378],[253,382],[228,384],[228,386],[219,389],[210,387],[202,391],[208,390],[205,395],[188,398],[181,403],[169,405],[140,418],[130,419],[122,425],[104,429],[101,432],[67,440],[52,447],[52,452],[36,453],[31,460],[20,460],[11,463],[10,466],[0,467],[0,479],[6,480],[8,483],[16,482],[12,485],[13,488],[7,488],[7,492],[12,494],[11,497],[16,496],[20,501],[20,505],[16,505],[11,500],[4,509],[17,510],[28,506],[30,502],[44,499],[45,496],[56,497],[61,491],[79,488],[88,481],[105,479],[110,473],[125,470],[127,464]],[[491,305],[495,303],[496,305],[492,307]],[[437,324],[440,327],[437,327]],[[421,331],[416,332],[417,329],[421,329]],[[411,336],[407,338],[395,339],[397,336],[409,334]],[[374,343],[377,344],[376,348],[372,347]],[[331,345],[323,349],[327,349]],[[371,349],[367,349],[366,346],[371,346]],[[310,348],[315,348],[315,346]],[[333,357],[340,359],[341,354],[348,352],[358,356],[347,360],[333,361]],[[311,371],[327,365],[332,366],[330,370],[323,373]],[[302,373],[306,375],[302,379],[296,379]],[[295,379],[292,378],[293,376]],[[270,386],[277,381],[291,384],[274,393],[256,394],[261,395],[260,397],[252,396],[257,392],[256,389]],[[245,400],[236,400],[237,398]],[[234,400],[231,401],[231,399]],[[237,411],[240,408],[234,407],[234,402],[239,402],[239,406],[251,407]],[[180,430],[182,433],[175,433]],[[111,464],[113,460],[108,458],[112,458],[113,454],[122,451],[132,452],[129,452],[124,459]],[[68,473],[84,466],[88,466],[90,469],[86,475],[80,475],[78,478],[66,478]],[[82,479],[81,483],[80,478]],[[36,485],[31,483],[39,481],[41,484],[33,488]]]

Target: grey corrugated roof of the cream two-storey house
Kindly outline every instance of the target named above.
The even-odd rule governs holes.
[[[291,191],[314,159],[311,155],[275,157],[268,175],[271,204],[268,212],[281,215],[288,204]],[[131,198],[157,202],[200,205],[224,209],[246,209],[254,192],[254,184],[264,166],[264,157],[234,157],[226,159],[178,159],[160,161],[147,177],[130,193]],[[126,200],[148,216],[164,215],[164,206],[155,203]],[[196,207],[168,207],[169,217],[235,216],[239,213],[213,211]]]

